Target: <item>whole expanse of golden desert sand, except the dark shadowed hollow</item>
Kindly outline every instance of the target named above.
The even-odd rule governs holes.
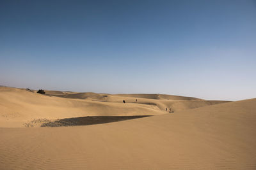
[[[105,116],[150,117],[83,125]],[[0,87],[0,169],[256,169],[255,121],[256,99]]]

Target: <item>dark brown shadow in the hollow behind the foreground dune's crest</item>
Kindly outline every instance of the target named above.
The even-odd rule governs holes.
[[[76,126],[76,125],[94,125],[106,124],[110,122],[118,122],[123,120],[130,120],[134,118],[150,117],[150,115],[143,116],[125,116],[125,117],[76,117],[76,118],[63,118],[54,122],[46,122],[41,127],[61,127],[61,126]]]

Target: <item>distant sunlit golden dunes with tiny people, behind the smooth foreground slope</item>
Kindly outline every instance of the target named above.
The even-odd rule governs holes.
[[[0,87],[0,127],[24,127],[29,121],[45,118],[162,115],[168,113],[166,108],[169,111],[170,107],[180,111],[225,102],[160,94],[112,95],[46,90],[42,95],[36,90]]]

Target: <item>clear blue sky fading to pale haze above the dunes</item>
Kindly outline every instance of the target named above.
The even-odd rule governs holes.
[[[256,1],[0,1],[0,85],[256,97]]]

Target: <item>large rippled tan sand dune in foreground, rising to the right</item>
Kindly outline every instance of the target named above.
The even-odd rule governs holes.
[[[0,128],[0,169],[256,169],[255,120],[250,99],[109,124]]]

